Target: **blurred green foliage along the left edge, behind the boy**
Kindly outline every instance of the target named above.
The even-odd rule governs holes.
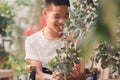
[[[10,5],[8,2],[1,1],[0,3],[0,69],[13,69],[15,75],[25,72],[22,67],[25,66],[24,59],[20,59],[20,56],[17,56],[17,53],[13,53],[12,46],[16,44],[14,29],[17,31],[17,25],[15,25],[14,13],[15,6],[18,6],[16,2],[15,5]],[[19,31],[20,28],[19,28]],[[22,31],[21,31],[22,32]],[[20,38],[19,38],[20,39]],[[6,45],[7,44],[7,45]],[[8,47],[9,50],[6,50]],[[22,71],[19,68],[23,69]]]

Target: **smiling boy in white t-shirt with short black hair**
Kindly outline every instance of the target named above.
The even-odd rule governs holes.
[[[57,55],[56,49],[62,46],[60,32],[64,28],[63,20],[69,18],[70,2],[69,0],[45,0],[44,5],[42,13],[47,25],[26,39],[25,60],[37,67],[36,80],[45,78],[54,80],[52,75],[43,73],[42,67],[47,67],[48,62]]]

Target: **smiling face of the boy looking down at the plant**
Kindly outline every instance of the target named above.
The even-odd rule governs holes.
[[[63,20],[69,18],[68,6],[55,6],[52,4],[51,9],[46,11],[47,27],[55,32],[59,33],[63,30]]]

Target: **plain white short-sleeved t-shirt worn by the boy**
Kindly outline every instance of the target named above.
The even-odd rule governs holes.
[[[61,40],[49,41],[43,35],[43,30],[27,37],[25,41],[25,59],[39,60],[43,66],[57,55],[56,49],[62,46]]]

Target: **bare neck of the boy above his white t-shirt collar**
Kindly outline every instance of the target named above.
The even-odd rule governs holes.
[[[48,40],[58,40],[58,39],[60,39],[62,37],[62,34],[55,33],[53,31],[49,30],[47,27],[44,28],[43,35]]]

